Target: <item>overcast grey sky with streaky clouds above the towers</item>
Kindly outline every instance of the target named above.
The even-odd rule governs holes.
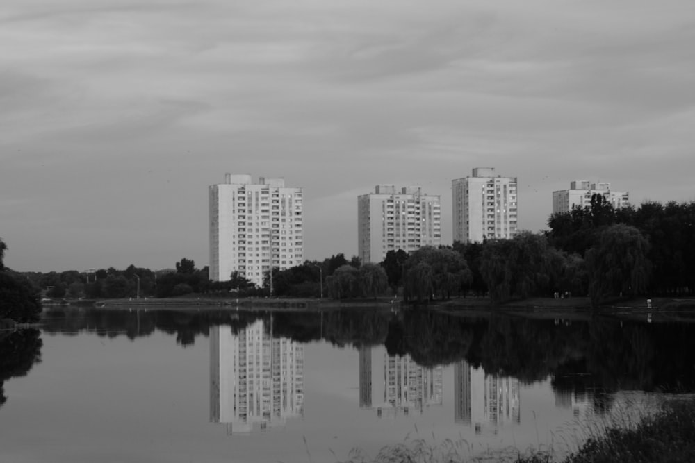
[[[357,254],[357,196],[518,178],[693,201],[695,3],[3,0],[0,237],[17,271],[208,263],[208,185],[304,190],[304,257]]]

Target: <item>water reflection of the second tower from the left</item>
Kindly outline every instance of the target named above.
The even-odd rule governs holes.
[[[375,408],[382,418],[422,414],[426,407],[442,404],[442,376],[442,367],[420,367],[409,355],[389,355],[384,348],[363,346],[359,348],[359,406]]]

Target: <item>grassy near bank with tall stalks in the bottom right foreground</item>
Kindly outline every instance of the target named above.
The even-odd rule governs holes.
[[[553,451],[505,450],[471,456],[467,443],[423,440],[386,446],[375,457],[353,451],[340,463],[671,463],[695,462],[695,399],[665,402],[637,423],[594,428],[577,451],[558,457]]]

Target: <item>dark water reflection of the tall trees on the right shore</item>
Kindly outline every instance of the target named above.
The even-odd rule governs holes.
[[[400,334],[402,330],[403,334]],[[623,389],[695,391],[695,325],[628,323],[596,317],[555,323],[511,317],[465,319],[405,312],[389,325],[387,349],[418,364],[466,360],[487,374],[530,383],[552,378],[556,390],[601,398]]]

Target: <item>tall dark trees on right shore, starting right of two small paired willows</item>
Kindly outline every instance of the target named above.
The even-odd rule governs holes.
[[[695,202],[614,210],[596,194],[591,206],[553,214],[548,226],[512,239],[389,253],[382,266],[392,287],[402,285],[404,297],[418,302],[455,293],[488,294],[493,302],[560,293],[599,305],[695,290]]]

